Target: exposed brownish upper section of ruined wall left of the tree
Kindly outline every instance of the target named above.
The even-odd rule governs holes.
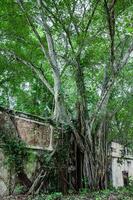
[[[49,147],[51,130],[48,124],[18,116],[12,117],[6,113],[0,113],[0,122],[0,127],[12,129],[28,146]]]

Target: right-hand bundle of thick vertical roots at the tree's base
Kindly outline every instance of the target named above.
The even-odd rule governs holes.
[[[98,130],[93,133],[92,148],[86,144],[84,152],[84,177],[91,189],[107,187],[107,122],[103,120]]]

